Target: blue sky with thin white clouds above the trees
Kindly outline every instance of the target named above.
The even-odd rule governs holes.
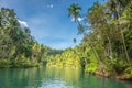
[[[40,44],[64,50],[74,47],[82,38],[82,35],[77,35],[77,24],[68,16],[67,9],[72,3],[77,3],[85,14],[95,1],[97,0],[0,0],[0,8],[14,9],[19,22],[31,30],[31,35]],[[77,40],[77,44],[74,44],[73,38]]]

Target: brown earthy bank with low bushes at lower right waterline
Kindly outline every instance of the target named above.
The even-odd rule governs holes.
[[[124,70],[117,73],[114,69],[108,69],[106,65],[99,64],[94,72],[95,75],[116,78],[120,80],[132,80],[132,67],[127,67]]]

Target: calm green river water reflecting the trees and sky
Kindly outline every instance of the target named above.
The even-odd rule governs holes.
[[[132,84],[73,68],[2,68],[0,88],[132,88]]]

